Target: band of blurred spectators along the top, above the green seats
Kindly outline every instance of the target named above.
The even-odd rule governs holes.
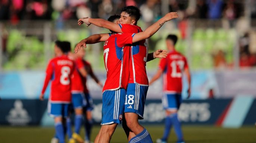
[[[145,22],[157,20],[167,12],[183,17],[234,20],[243,14],[239,0],[0,0],[0,20],[78,19],[90,16],[107,19],[124,6],[141,9]]]

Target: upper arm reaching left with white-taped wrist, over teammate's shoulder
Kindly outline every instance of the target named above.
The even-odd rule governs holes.
[[[86,17],[86,18],[79,19],[77,24],[81,25],[83,23],[85,23],[87,26],[89,26],[90,24],[93,24],[98,27],[107,28],[117,33],[123,33],[121,30],[121,27],[117,23],[110,22],[105,19],[94,19],[94,18]]]

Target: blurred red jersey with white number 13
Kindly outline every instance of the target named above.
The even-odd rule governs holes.
[[[181,93],[182,72],[188,68],[185,56],[176,51],[169,52],[166,58],[160,60],[159,68],[164,71],[164,92]]]

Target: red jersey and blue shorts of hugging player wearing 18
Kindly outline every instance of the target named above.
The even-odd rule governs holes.
[[[142,32],[141,27],[130,24],[120,24],[123,33]],[[124,112],[136,113],[143,119],[146,93],[148,91],[148,77],[146,75],[146,61],[148,45],[146,40],[133,43],[130,48],[129,84],[127,87]]]

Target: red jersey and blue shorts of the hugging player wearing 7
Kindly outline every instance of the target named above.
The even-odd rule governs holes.
[[[102,125],[121,123],[126,88],[129,82],[129,47],[131,33],[110,35],[104,44],[104,63],[107,79],[102,95]]]

